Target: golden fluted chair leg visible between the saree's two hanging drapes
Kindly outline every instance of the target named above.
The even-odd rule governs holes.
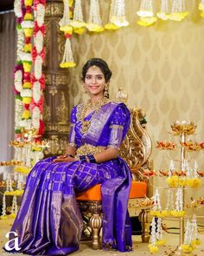
[[[99,231],[102,226],[102,218],[99,213],[93,213],[90,219],[90,226],[92,228],[92,249],[99,249]]]

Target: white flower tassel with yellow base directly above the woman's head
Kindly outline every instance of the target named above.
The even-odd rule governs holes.
[[[101,32],[104,30],[100,18],[99,0],[91,0],[86,29],[92,32]]]

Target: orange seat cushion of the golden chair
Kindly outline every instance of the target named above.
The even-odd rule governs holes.
[[[84,193],[79,194],[76,200],[101,200],[100,184],[97,184]],[[131,192],[129,198],[141,198],[147,194],[147,184],[143,181],[131,181]]]

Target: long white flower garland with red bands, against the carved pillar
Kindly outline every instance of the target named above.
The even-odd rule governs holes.
[[[32,49],[32,61],[34,63],[34,73],[31,75],[32,100],[30,107],[32,111],[32,126],[37,130],[37,134],[43,133],[43,98],[42,91],[45,87],[45,79],[42,74],[42,63],[45,58],[45,47],[43,46],[45,37],[45,3],[46,0],[34,0],[34,47]]]

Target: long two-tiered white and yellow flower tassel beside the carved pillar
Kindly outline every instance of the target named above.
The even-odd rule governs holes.
[[[73,27],[71,26],[70,21],[70,1],[64,0],[64,13],[60,21],[60,30],[64,31],[66,37],[64,55],[60,64],[61,68],[73,68],[76,66],[76,63],[73,61],[73,52],[71,48],[70,38],[73,34]]]

